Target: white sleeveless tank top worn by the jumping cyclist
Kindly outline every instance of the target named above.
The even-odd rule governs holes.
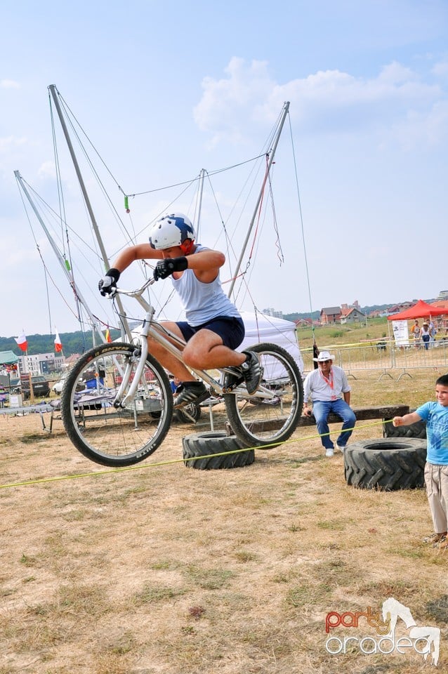
[[[210,249],[206,246],[196,244],[195,253],[208,250]],[[197,279],[192,269],[185,269],[180,279],[171,277],[171,283],[179,295],[187,323],[190,325],[194,327],[202,325],[218,316],[241,318],[237,308],[221,287],[219,273],[211,283],[203,283]]]

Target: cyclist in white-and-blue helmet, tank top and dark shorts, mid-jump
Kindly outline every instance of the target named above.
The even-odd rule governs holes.
[[[223,253],[195,244],[195,230],[189,218],[172,213],[157,220],[150,230],[149,244],[129,246],[119,254],[98,283],[101,295],[108,295],[117,287],[121,272],[134,260],[159,260],[154,269],[156,281],[171,276],[187,320],[162,325],[187,342],[183,349],[185,365],[203,370],[238,367],[247,392],[255,393],[261,380],[260,363],[253,351],[235,351],[244,339],[244,323],[220,284]],[[182,382],[174,407],[209,397],[204,383],[192,378],[190,370],[166,348],[150,337],[148,348]]]

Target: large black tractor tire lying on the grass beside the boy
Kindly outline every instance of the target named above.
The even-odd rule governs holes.
[[[360,489],[420,489],[425,463],[426,440],[360,440],[344,451],[345,480]]]

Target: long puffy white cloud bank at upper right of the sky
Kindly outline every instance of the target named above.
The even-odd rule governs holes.
[[[438,84],[427,84],[398,62],[370,79],[319,70],[277,84],[266,62],[239,58],[230,60],[225,73],[223,79],[204,79],[204,94],[194,110],[199,128],[212,134],[213,143],[239,141],[249,124],[272,124],[285,100],[291,101],[291,117],[308,133],[341,133],[369,126],[388,129],[416,112],[427,124],[433,106],[446,98]]]

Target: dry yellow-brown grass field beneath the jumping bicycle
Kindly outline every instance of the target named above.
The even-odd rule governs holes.
[[[353,405],[415,406],[437,376],[357,378]],[[37,414],[0,416],[0,673],[433,670],[411,648],[328,652],[329,612],[377,612],[388,597],[440,628],[446,670],[448,553],[421,543],[425,492],[348,487],[343,457],[325,458],[312,427],[246,468],[186,468],[182,437],[207,421],[173,424],[145,463],[114,472],[81,456],[60,421],[48,433]],[[379,437],[380,420],[360,422],[353,440]],[[375,630],[360,618],[331,635]]]

